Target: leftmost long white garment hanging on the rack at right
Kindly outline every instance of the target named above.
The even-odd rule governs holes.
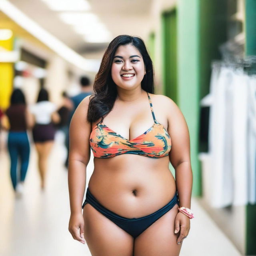
[[[226,125],[231,129],[230,108],[226,108],[228,101],[232,101],[233,70],[222,67],[212,70],[210,94],[212,94],[212,106],[209,116],[209,153],[211,156],[211,180],[212,194],[210,205],[220,208],[232,204],[232,139]],[[232,104],[231,104],[232,105]],[[227,132],[227,134],[226,134]],[[226,141],[228,144],[226,144]],[[226,145],[226,147],[225,147]]]

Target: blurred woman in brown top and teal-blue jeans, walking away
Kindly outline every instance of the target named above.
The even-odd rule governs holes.
[[[10,99],[10,106],[3,116],[3,126],[9,129],[8,151],[11,159],[11,180],[16,196],[23,192],[24,180],[28,170],[30,145],[27,128],[32,126],[32,116],[27,109],[25,96],[20,89],[14,89]],[[8,127],[9,126],[9,127]],[[20,182],[17,178],[17,162],[20,158]]]

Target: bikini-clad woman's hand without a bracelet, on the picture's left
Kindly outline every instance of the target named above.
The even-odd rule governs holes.
[[[70,215],[68,231],[75,240],[78,240],[82,244],[86,243],[84,239],[84,218],[82,213]]]

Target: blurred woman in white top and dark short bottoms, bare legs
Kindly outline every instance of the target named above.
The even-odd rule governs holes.
[[[48,92],[44,88],[40,89],[38,93],[37,103],[30,107],[36,123],[32,134],[38,152],[38,169],[42,190],[45,188],[47,159],[54,142],[55,127],[53,122],[58,123],[60,121],[56,109],[56,105],[49,101]]]

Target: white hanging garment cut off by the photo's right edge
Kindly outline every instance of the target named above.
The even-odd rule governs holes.
[[[248,197],[249,203],[256,203],[256,76],[248,84]]]

